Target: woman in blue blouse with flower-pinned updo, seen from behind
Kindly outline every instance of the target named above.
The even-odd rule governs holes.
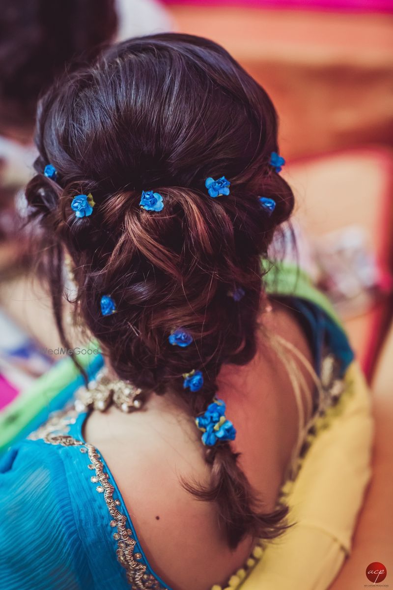
[[[155,35],[49,90],[37,146],[26,194],[55,317],[70,348],[69,257],[105,369],[4,460],[0,581],[234,587],[296,526],[282,486],[352,361],[319,294],[267,286],[293,209],[274,107],[214,42]]]

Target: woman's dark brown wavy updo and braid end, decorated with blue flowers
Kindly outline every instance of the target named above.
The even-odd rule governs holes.
[[[256,353],[263,270],[273,233],[288,219],[293,194],[269,165],[278,152],[277,118],[266,92],[213,41],[160,34],[114,45],[92,67],[52,87],[38,110],[37,176],[27,187],[50,251],[49,282],[61,323],[62,251],[70,253],[75,309],[121,379],[176,392],[196,416],[212,402],[223,363]],[[58,182],[42,174],[48,162]],[[230,195],[211,198],[208,177],[226,176]],[[143,190],[163,196],[144,211]],[[71,210],[93,194],[90,217]],[[272,215],[259,196],[275,200]],[[245,296],[230,293],[241,287]],[[110,294],[117,313],[103,317]],[[168,337],[182,327],[187,348]],[[203,388],[184,391],[183,373],[203,372]],[[286,508],[263,513],[228,443],[206,447],[209,489],[231,547],[246,534],[273,537]]]

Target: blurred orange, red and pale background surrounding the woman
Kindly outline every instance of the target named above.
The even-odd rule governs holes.
[[[376,548],[392,544],[369,532],[375,506],[388,506],[381,498],[393,491],[392,13],[391,0],[2,0],[0,448],[31,430],[34,412],[21,418],[29,392],[62,358],[48,353],[60,339],[21,222],[39,93],[103,42],[161,31],[212,38],[275,103],[283,174],[297,198],[300,263],[335,304],[373,383],[375,483],[352,562],[333,587],[357,587],[351,568],[369,542],[364,583],[367,563],[381,560]],[[47,408],[55,405],[48,393]]]

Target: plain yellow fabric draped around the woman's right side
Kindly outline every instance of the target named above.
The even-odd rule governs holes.
[[[371,398],[357,363],[346,391],[317,422],[298,477],[285,486],[296,524],[266,545],[242,590],[326,590],[351,550],[352,533],[371,477]],[[232,586],[233,588],[233,586]]]

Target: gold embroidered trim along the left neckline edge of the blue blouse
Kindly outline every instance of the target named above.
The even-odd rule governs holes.
[[[108,481],[108,474],[104,472],[103,461],[97,449],[88,443],[77,440],[68,434],[70,425],[75,424],[78,413],[74,410],[56,412],[48,421],[38,428],[37,431],[29,435],[31,440],[44,440],[48,444],[62,445],[64,447],[80,446],[81,452],[86,452],[90,459],[88,464],[89,470],[95,471],[95,476],[90,477],[92,483],[97,483],[95,490],[102,493],[105,503],[110,513],[110,526],[117,528],[113,537],[117,540],[116,555],[118,562],[126,569],[128,583],[136,590],[164,590],[160,582],[152,575],[147,573],[147,565],[136,559],[141,559],[141,553],[135,553],[136,540],[133,539],[131,529],[127,528],[127,517],[118,510],[121,506],[120,500],[114,500],[114,487]]]

